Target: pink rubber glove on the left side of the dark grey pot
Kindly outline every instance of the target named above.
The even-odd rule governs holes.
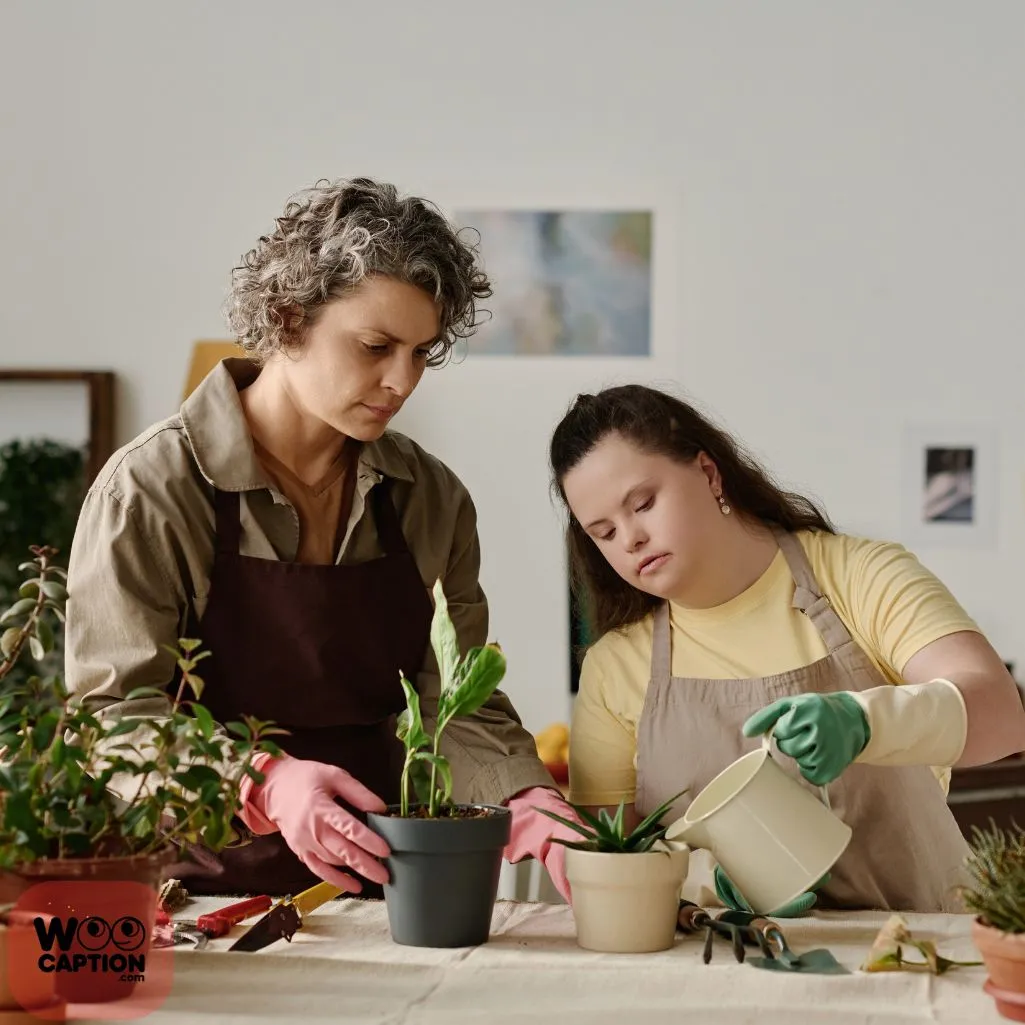
[[[346,865],[374,883],[387,883],[387,869],[377,860],[391,853],[387,844],[334,799],[339,796],[363,812],[383,812],[380,797],[344,769],[323,762],[263,755],[253,766],[266,778],[243,784],[239,818],[254,833],[281,830],[312,872],[350,893],[359,893],[363,884],[335,865]]]

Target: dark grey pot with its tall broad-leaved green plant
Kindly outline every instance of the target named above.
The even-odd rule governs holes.
[[[415,688],[400,673],[406,694],[397,729],[405,747],[400,804],[370,813],[367,822],[392,849],[384,885],[392,938],[408,946],[477,946],[491,930],[510,813],[453,803],[441,740],[453,719],[491,697],[505,674],[505,657],[497,644],[460,655],[440,580],[434,598],[430,645],[441,675],[434,730],[424,724]]]

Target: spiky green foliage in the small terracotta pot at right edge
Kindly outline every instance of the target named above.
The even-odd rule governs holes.
[[[965,906],[1001,933],[1025,933],[1025,834],[1017,825],[1004,830],[990,820],[988,829],[972,827],[970,846]]]

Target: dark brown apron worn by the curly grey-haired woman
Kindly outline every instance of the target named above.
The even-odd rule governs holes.
[[[399,673],[419,671],[433,609],[386,478],[368,501],[384,554],[313,566],[240,555],[239,493],[216,491],[210,592],[190,636],[212,653],[202,703],[217,722],[273,721],[289,731],[273,738],[289,754],[339,766],[392,804],[403,764]],[[320,881],[280,833],[217,855],[189,850],[173,874],[193,893],[294,894]],[[380,893],[363,881],[365,895]]]

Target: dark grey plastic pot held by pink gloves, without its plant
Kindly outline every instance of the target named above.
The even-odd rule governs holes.
[[[371,813],[367,823],[387,840],[384,885],[392,939],[411,947],[474,947],[488,942],[498,896],[502,849],[512,817],[494,805],[478,818],[402,818]]]

